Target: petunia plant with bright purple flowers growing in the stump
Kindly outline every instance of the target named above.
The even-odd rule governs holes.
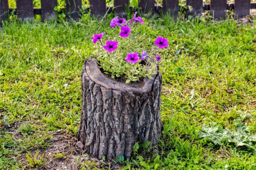
[[[99,67],[105,74],[110,74],[113,79],[125,78],[125,83],[139,81],[144,77],[152,79],[151,75],[156,74],[155,68],[161,59],[159,55],[154,54],[158,48],[168,46],[166,38],[157,37],[154,41],[156,46],[151,47],[150,50],[143,47],[139,40],[144,35],[140,34],[138,26],[145,23],[141,17],[136,17],[136,14],[137,12],[130,20],[118,19],[118,16],[111,20],[111,28],[116,28],[119,32],[117,37],[105,40],[103,32],[91,37],[93,43],[96,44],[94,55]]]

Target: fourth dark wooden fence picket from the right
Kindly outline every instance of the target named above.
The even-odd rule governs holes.
[[[178,17],[179,12],[179,0],[163,0],[163,13],[170,13],[174,20]]]

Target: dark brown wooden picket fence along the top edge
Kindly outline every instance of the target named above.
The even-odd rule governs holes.
[[[107,11],[106,0],[90,0],[91,14],[105,15]],[[82,6],[82,0],[65,0],[66,15],[73,20],[79,19],[79,9]],[[114,0],[114,12],[116,15],[124,13],[125,5],[129,4],[129,0]],[[234,0],[234,3],[227,4],[227,0],[211,0],[210,4],[203,4],[203,0],[187,0],[186,4],[192,11],[187,12],[187,16],[200,16],[203,11],[210,11],[210,15],[214,18],[226,19],[226,10],[234,10],[237,18],[250,14],[250,9],[256,8],[256,3],[251,0]],[[33,7],[33,0],[16,0],[16,13],[19,20],[30,20],[34,15],[41,15],[42,21],[56,17],[54,7],[57,6],[57,0],[41,0],[41,8]],[[139,0],[138,6],[142,12],[150,11],[170,13],[174,18],[178,16],[179,4],[178,0],[162,0],[161,6],[155,6],[155,0]],[[192,8],[191,8],[192,7]],[[9,9],[8,0],[0,0],[0,22],[7,19]]]

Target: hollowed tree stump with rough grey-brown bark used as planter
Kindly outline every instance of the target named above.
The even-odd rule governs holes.
[[[123,155],[131,158],[136,142],[161,137],[160,96],[162,75],[144,78],[142,87],[108,79],[93,59],[82,71],[82,112],[78,139],[80,148],[98,159]]]

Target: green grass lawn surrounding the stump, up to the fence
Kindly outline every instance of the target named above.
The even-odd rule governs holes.
[[[149,19],[144,44],[162,50],[163,138],[110,162],[75,147],[80,74],[103,21],[19,23],[0,28],[0,169],[256,169],[256,27],[207,18]]]

